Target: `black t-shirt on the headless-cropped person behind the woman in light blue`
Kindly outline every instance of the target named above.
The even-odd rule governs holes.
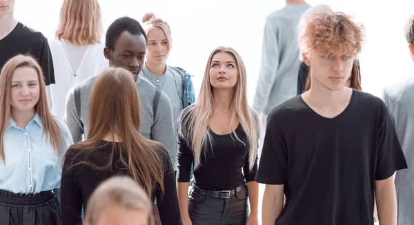
[[[0,40],[0,70],[9,59],[19,54],[29,54],[36,58],[43,70],[46,85],[55,84],[48,40],[41,32],[32,30],[23,23],[17,23],[12,32]]]

